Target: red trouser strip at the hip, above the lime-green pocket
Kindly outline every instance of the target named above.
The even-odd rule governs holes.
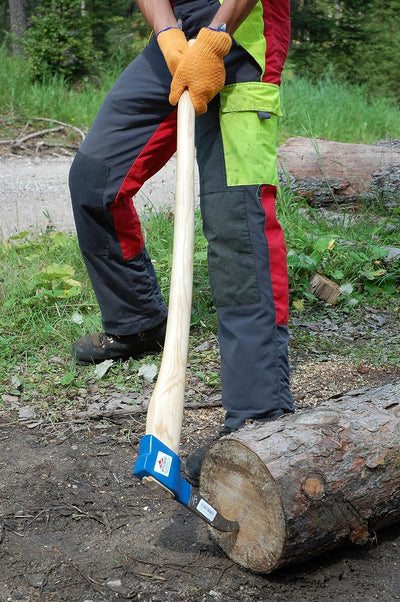
[[[289,0],[262,0],[264,36],[267,42],[263,82],[281,83],[290,42]]]

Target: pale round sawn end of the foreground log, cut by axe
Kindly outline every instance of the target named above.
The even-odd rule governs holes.
[[[213,539],[237,564],[269,573],[280,563],[285,545],[282,500],[268,468],[238,441],[218,441],[203,462],[200,491],[237,533],[211,530]]]

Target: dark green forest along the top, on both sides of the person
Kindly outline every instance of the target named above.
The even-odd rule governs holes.
[[[366,94],[400,99],[399,0],[290,4],[293,73],[311,80],[328,73]],[[150,33],[129,0],[1,0],[0,11],[1,44],[25,53],[33,78],[58,74],[75,85],[126,66]]]

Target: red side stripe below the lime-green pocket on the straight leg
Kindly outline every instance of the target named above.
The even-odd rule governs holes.
[[[285,238],[281,225],[276,218],[276,193],[276,186],[265,184],[261,189],[261,203],[265,212],[265,237],[269,249],[276,323],[286,326],[289,320],[288,271]]]

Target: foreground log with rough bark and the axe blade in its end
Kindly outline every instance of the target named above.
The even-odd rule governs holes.
[[[200,491],[240,525],[212,537],[254,572],[366,543],[400,521],[400,382],[224,437],[205,457]]]

